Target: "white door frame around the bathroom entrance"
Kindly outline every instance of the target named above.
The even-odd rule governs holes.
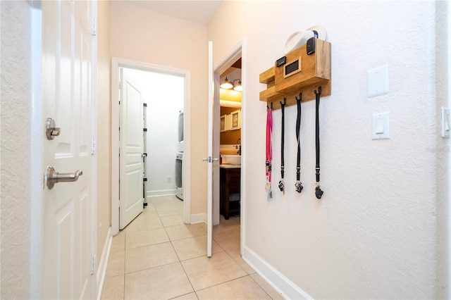
[[[238,58],[241,58],[241,82],[242,86],[245,87],[242,89],[241,94],[241,127],[246,128],[246,38],[242,37],[235,46],[232,47],[224,56],[221,58],[218,63],[214,66],[214,112],[215,118],[219,117],[220,105],[219,105],[219,84],[220,84],[220,75],[228,68],[230,68]],[[216,125],[216,130],[214,130],[214,157],[219,156],[219,120],[214,120],[214,124]],[[241,130],[241,207],[240,207],[240,253],[242,254],[242,248],[245,244],[245,216],[246,216],[246,188],[244,185],[245,174],[246,174],[246,133],[245,130]],[[214,182],[219,182],[219,168],[217,168],[216,172],[214,172]],[[216,186],[215,186],[216,187]],[[219,223],[219,185],[214,189],[214,212],[213,212],[213,223]]]

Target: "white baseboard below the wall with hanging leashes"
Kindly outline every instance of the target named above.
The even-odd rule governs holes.
[[[313,299],[247,246],[243,247],[242,258],[285,299]]]

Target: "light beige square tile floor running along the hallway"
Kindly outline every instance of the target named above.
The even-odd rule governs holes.
[[[183,223],[183,202],[153,197],[113,237],[101,299],[283,299],[240,256],[240,217],[214,227]]]

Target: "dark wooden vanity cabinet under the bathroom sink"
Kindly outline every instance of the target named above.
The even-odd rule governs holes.
[[[221,166],[219,174],[221,214],[228,220],[231,214],[240,214],[241,168]]]

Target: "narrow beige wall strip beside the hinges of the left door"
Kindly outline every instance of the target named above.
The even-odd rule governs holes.
[[[97,5],[97,259],[100,261],[111,226],[111,56],[110,2],[99,1]]]

